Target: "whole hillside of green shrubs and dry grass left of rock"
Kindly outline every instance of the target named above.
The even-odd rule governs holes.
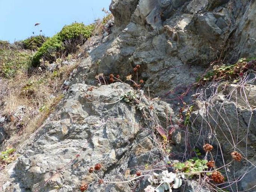
[[[103,33],[106,18],[111,14],[90,25],[65,25],[53,37],[35,35],[14,44],[0,40],[1,151],[22,143],[55,110],[68,89],[64,82],[87,56],[78,58],[81,46]]]

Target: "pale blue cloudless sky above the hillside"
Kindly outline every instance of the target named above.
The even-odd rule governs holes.
[[[74,21],[91,24],[109,10],[111,0],[0,0],[0,40],[10,43],[39,30],[52,37]],[[34,24],[40,23],[38,27]]]

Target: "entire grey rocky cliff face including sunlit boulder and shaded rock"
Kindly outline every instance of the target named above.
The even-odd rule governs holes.
[[[218,83],[201,89],[193,84],[215,64],[256,55],[256,1],[112,0],[110,10],[112,34],[91,39],[89,57],[73,71],[58,109],[8,165],[2,191],[79,191],[83,182],[90,183],[87,191],[144,191],[149,183],[143,178],[98,181],[129,180],[138,170],[166,167],[205,143],[215,147],[218,167],[234,150],[243,155],[243,161],[225,167],[227,180],[219,187],[255,191],[255,72],[243,74],[225,92]],[[96,81],[99,74],[105,77]],[[110,74],[122,81],[132,74],[144,81],[146,95],[159,98],[111,83]],[[190,123],[182,127],[178,109],[192,100]],[[172,130],[172,142],[161,143],[157,127]],[[97,163],[101,170],[89,173]],[[177,190],[210,191],[193,182]]]

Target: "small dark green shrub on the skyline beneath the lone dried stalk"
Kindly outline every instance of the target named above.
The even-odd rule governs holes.
[[[39,47],[42,46],[42,44],[49,39],[49,37],[45,37],[43,35],[37,35],[37,36],[31,36],[25,40],[22,41],[24,49],[30,49],[30,50],[38,50]]]

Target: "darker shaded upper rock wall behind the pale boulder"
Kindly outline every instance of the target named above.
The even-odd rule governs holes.
[[[99,73],[125,77],[140,65],[144,87],[164,96],[170,89],[184,91],[213,61],[256,54],[255,1],[127,2],[112,1],[116,30],[91,52],[90,73],[79,73],[78,83],[93,83]]]

